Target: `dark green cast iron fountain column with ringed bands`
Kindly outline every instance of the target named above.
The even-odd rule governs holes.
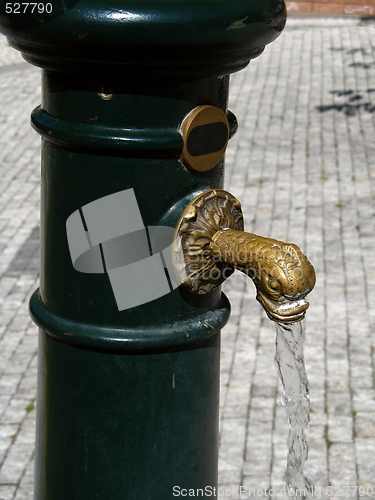
[[[284,3],[51,5],[18,15],[0,2],[0,31],[44,68],[32,114],[42,135],[35,500],[213,497],[226,297],[175,288],[119,310],[107,272],[73,267],[67,220],[133,190],[145,227],[174,228],[198,193],[222,187],[223,159],[203,173],[179,161],[179,125],[197,106],[227,112],[227,75],[279,35]]]

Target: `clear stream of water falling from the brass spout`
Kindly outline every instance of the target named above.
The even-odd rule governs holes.
[[[279,403],[285,406],[289,420],[288,457],[285,482],[289,498],[313,497],[313,485],[303,475],[308,447],[304,429],[310,421],[309,385],[302,349],[302,324],[276,323],[275,362],[284,388]]]

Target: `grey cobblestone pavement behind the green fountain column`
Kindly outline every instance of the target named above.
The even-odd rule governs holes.
[[[231,78],[240,128],[226,189],[242,201],[247,231],[297,243],[317,272],[305,321],[305,472],[325,496],[375,497],[374,56],[371,20],[294,18]],[[40,142],[29,114],[40,71],[4,38],[0,97],[0,500],[31,500],[36,327],[27,302],[37,287]],[[235,273],[225,290],[221,498],[239,498],[240,486],[243,498],[269,488],[282,498],[288,424],[274,326],[250,280]]]

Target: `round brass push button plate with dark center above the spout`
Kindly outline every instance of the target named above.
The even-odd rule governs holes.
[[[216,106],[198,106],[184,118],[180,133],[183,138],[181,162],[196,172],[216,167],[228,145],[227,115]]]

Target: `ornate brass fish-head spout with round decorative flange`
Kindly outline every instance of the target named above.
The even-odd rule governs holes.
[[[270,319],[304,318],[305,296],[315,285],[312,264],[297,245],[244,232],[240,202],[227,191],[205,191],[188,205],[174,250],[182,284],[191,292],[208,293],[238,269],[253,280]]]

